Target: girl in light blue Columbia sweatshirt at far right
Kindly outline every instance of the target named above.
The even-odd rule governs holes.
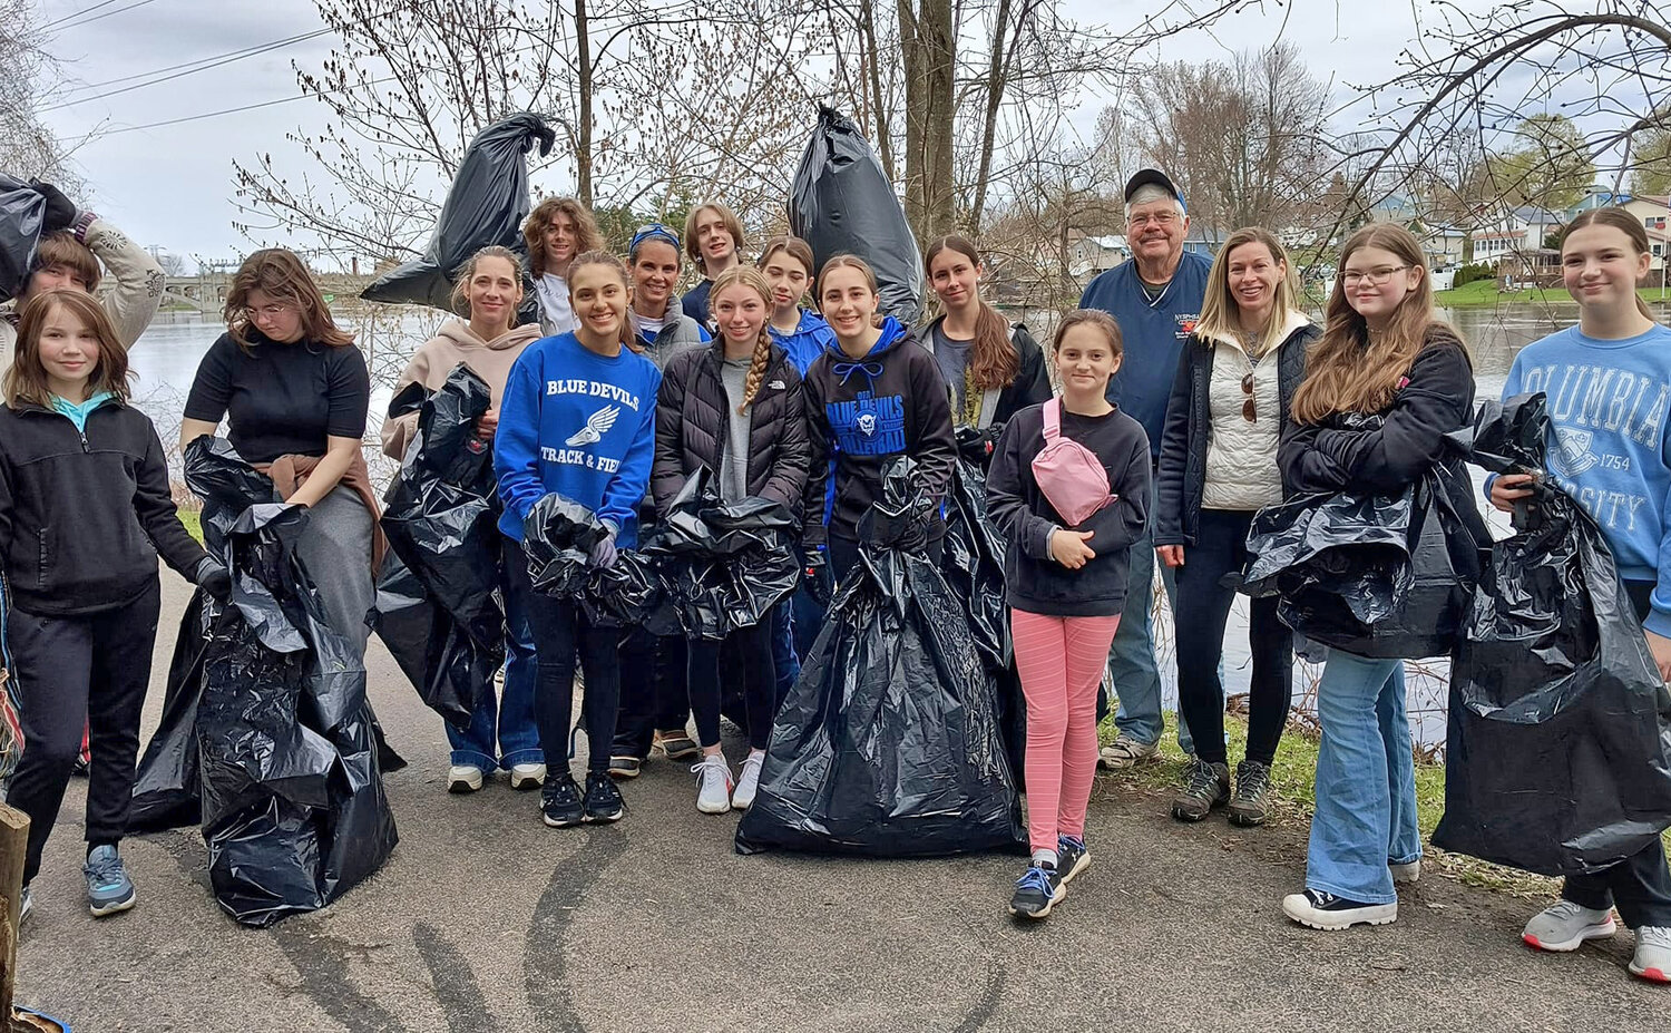
[[[1648,314],[1648,232],[1624,209],[1582,212],[1561,241],[1561,269],[1579,324],[1514,356],[1502,396],[1542,391],[1556,440],[1547,475],[1589,510],[1608,538],[1661,677],[1671,677],[1671,329]],[[1499,476],[1491,501],[1512,510],[1527,473]],[[1522,933],[1542,951],[1576,951],[1614,933],[1613,908],[1636,929],[1631,971],[1671,983],[1671,871],[1656,839],[1629,861],[1571,876],[1561,901]]]

